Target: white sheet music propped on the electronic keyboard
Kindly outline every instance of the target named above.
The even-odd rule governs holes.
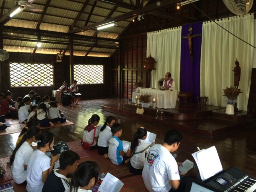
[[[223,170],[215,146],[199,150],[193,153],[192,156],[196,161],[200,177],[203,181]]]

